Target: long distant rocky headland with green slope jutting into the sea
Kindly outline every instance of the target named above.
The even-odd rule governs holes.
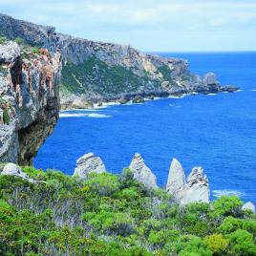
[[[136,96],[180,96],[181,94],[233,91],[222,87],[214,74],[193,75],[188,63],[178,58],[164,58],[140,53],[129,45],[94,42],[55,32],[0,14],[0,34],[55,53],[61,51],[63,69],[61,97],[63,105],[72,105],[77,96],[88,102],[120,100]],[[78,107],[79,107],[78,106]]]

